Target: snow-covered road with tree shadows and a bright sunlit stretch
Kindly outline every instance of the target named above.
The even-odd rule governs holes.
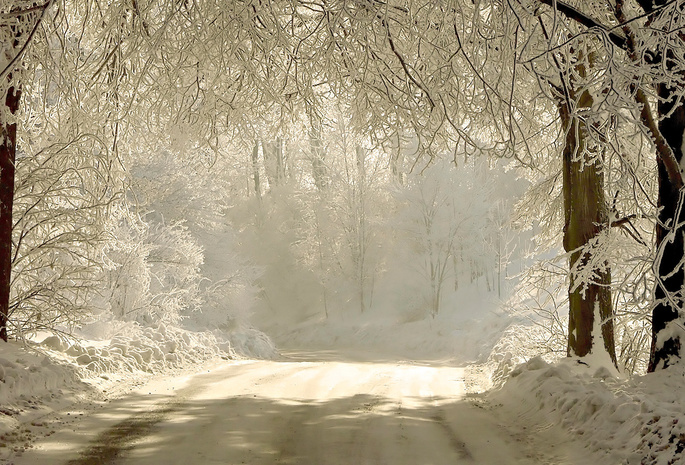
[[[109,402],[13,463],[586,463],[555,426],[469,402],[467,382],[463,368],[335,353],[229,362]]]

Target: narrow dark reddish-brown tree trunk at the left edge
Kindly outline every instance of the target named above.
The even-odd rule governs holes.
[[[5,95],[6,111],[15,115],[21,90],[12,86]],[[0,112],[1,113],[1,112]],[[12,206],[17,124],[0,119],[0,338],[7,341],[10,279],[12,273]]]

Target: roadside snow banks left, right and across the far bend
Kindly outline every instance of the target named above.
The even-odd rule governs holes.
[[[628,379],[602,360],[534,357],[516,366],[528,357],[509,350],[519,345],[502,343],[511,339],[505,328],[512,320],[494,312],[484,316],[394,325],[371,319],[346,325],[312,322],[278,337],[284,346],[337,345],[366,357],[432,356],[441,360],[440,366],[482,362],[491,353],[488,363],[467,368],[463,383],[469,392],[491,389],[473,399],[496,409],[505,423],[519,425],[522,437],[531,428],[558,425],[574,437],[574,447],[584,446],[582,452],[595,457],[577,463],[685,465],[685,368]],[[491,341],[503,333],[492,350]],[[36,438],[68,429],[81,415],[104,408],[106,399],[128,394],[158,375],[198,372],[222,358],[276,354],[270,339],[252,328],[225,334],[122,323],[86,327],[81,337],[76,341],[43,335],[38,342],[3,345],[0,463],[20,455]]]

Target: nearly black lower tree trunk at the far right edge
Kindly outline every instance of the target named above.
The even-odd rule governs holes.
[[[660,86],[659,90],[659,130],[671,147],[678,163],[683,158],[683,131],[685,130],[685,107],[674,97],[674,89]],[[677,107],[676,107],[677,104]],[[675,107],[675,108],[674,108]],[[663,116],[668,115],[668,116]],[[657,250],[661,250],[661,260],[657,264],[657,285],[654,291],[655,307],[652,311],[652,346],[648,371],[666,368],[680,358],[681,341],[677,335],[660,336],[671,322],[680,320],[679,312],[683,308],[683,285],[685,272],[682,260],[685,255],[683,229],[677,226],[685,221],[685,208],[681,207],[678,215],[680,189],[671,182],[664,163],[657,158],[659,175],[659,221],[656,225]],[[678,215],[677,221],[676,215]],[[673,231],[676,227],[679,231]],[[660,339],[663,339],[660,341]]]

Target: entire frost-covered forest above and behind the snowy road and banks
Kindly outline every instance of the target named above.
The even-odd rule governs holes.
[[[98,372],[75,341],[117,331],[678,370],[683,28],[682,0],[4,0],[0,338]]]

